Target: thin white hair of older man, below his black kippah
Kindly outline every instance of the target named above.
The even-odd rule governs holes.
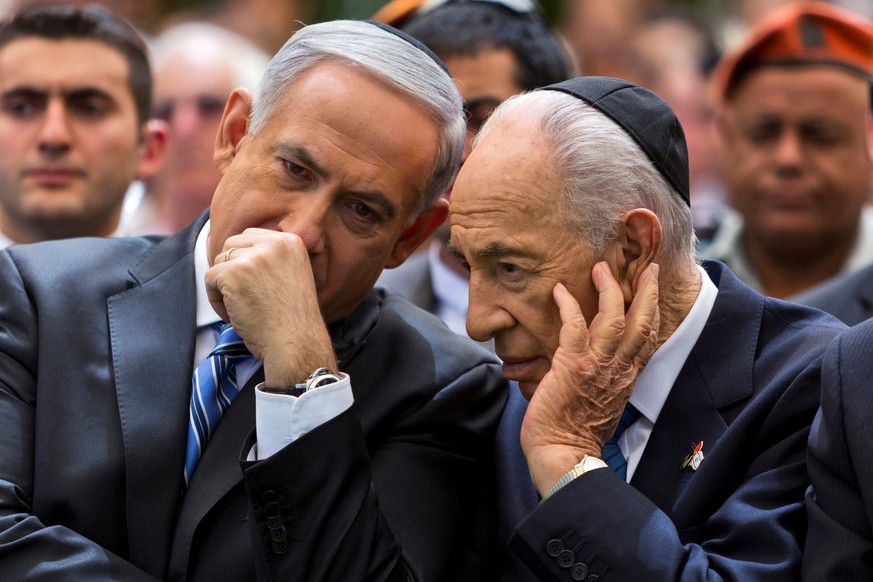
[[[558,91],[535,91],[505,101],[477,136],[516,112],[532,116],[552,144],[551,162],[564,185],[559,211],[600,258],[618,236],[618,219],[647,208],[661,221],[662,252],[672,268],[698,264],[691,209],[639,145],[609,117]]]

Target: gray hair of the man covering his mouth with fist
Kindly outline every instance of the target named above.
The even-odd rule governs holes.
[[[270,61],[252,108],[249,132],[256,134],[294,80],[325,62],[359,67],[417,103],[437,123],[437,160],[423,183],[422,198],[410,220],[445,194],[464,149],[463,105],[455,84],[436,61],[408,41],[371,23],[335,20],[306,26]],[[415,131],[415,128],[410,128]]]

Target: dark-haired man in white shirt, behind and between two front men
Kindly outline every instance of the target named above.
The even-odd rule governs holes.
[[[519,3],[448,2],[406,16],[403,30],[446,64],[467,114],[467,142],[492,111],[512,95],[557,83],[571,75],[560,41],[537,11]],[[524,3],[521,3],[524,5]],[[377,284],[396,291],[466,335],[467,273],[446,251],[445,223],[421,252],[403,266],[386,270]]]

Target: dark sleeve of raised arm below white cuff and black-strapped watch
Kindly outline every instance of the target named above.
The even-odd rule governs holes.
[[[483,487],[505,398],[499,366],[483,362],[366,434],[356,404],[269,459],[244,463],[259,577],[453,581],[469,573],[487,543],[471,532],[488,519]],[[271,538],[277,531],[287,532],[287,548]]]

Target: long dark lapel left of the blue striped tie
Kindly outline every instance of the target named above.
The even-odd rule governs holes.
[[[131,559],[167,564],[182,486],[194,358],[194,238],[202,220],[165,239],[107,301],[126,463]],[[169,300],[168,300],[169,299]]]

